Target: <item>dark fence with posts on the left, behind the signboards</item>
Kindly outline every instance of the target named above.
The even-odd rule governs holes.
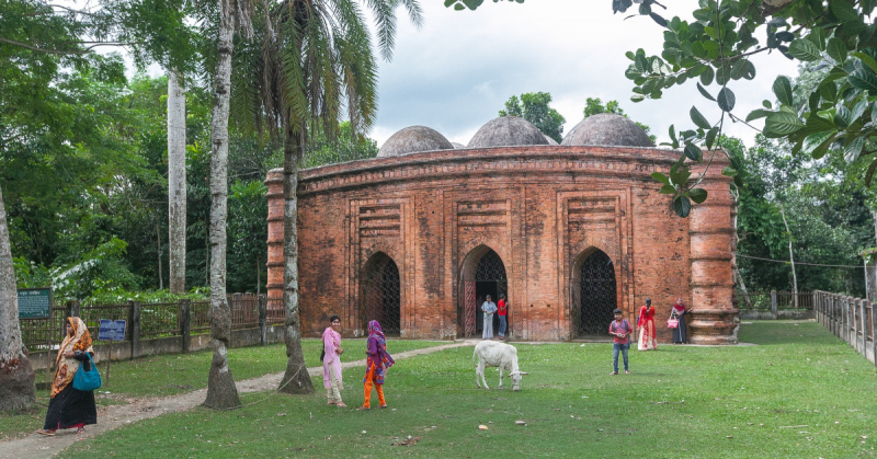
[[[269,300],[264,295],[235,294],[228,296],[231,309],[231,329],[264,329],[281,324],[286,319],[282,300]],[[130,342],[136,355],[140,340],[179,336],[183,351],[189,351],[192,335],[210,332],[209,301],[179,300],[175,302],[127,301],[117,305],[86,305],[66,301],[53,306],[46,319],[22,319],[22,342],[29,352],[57,348],[64,340],[65,319],[79,317],[98,338],[101,319],[126,320],[125,341]],[[264,330],[262,335],[264,336]]]

